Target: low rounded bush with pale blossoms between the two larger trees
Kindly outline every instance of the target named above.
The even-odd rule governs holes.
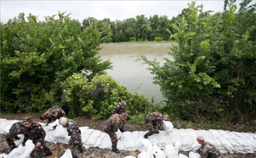
[[[105,119],[110,117],[120,101],[127,102],[127,113],[137,115],[153,107],[142,95],[130,94],[124,86],[117,84],[107,75],[95,76],[89,81],[83,74],[73,74],[63,81],[65,101],[70,116],[86,115],[89,118]]]

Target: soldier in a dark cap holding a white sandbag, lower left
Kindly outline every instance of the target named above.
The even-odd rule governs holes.
[[[52,155],[53,153],[50,152],[50,149],[44,143],[46,132],[43,130],[42,126],[39,123],[33,123],[31,118],[25,118],[23,125],[25,126],[25,137],[22,146],[25,147],[26,141],[30,139],[33,144],[36,145],[34,149],[35,158]]]

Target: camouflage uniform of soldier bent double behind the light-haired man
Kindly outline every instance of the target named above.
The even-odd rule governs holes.
[[[54,117],[52,114],[51,114],[51,111],[53,110],[57,110],[58,111],[58,115],[56,117]],[[59,106],[52,106],[51,108],[49,108],[46,113],[43,113],[43,116],[45,119],[48,119],[48,123],[47,125],[53,120],[53,122],[56,120],[56,119],[60,119],[61,117],[67,117],[65,111],[63,111],[62,108],[60,108]]]

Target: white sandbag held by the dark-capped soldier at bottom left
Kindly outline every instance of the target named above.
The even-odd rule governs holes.
[[[32,140],[28,140],[26,142],[26,146],[22,147],[22,145],[19,145],[17,148],[13,149],[7,158],[29,158],[31,152],[35,148],[35,145],[33,144]]]

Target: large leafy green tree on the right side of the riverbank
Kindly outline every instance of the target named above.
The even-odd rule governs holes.
[[[195,2],[183,9],[182,18],[173,23],[171,35],[178,45],[169,54],[174,61],[149,61],[154,83],[168,99],[164,111],[184,120],[230,120],[255,118],[256,53],[255,5],[242,1],[240,11],[230,6],[211,16]],[[171,33],[171,31],[169,31]]]

